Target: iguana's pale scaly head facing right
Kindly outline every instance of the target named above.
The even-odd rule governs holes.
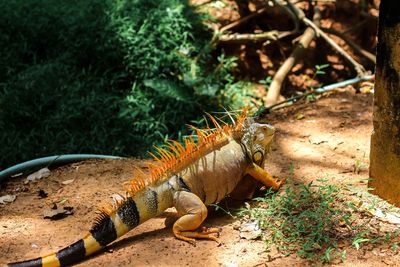
[[[255,122],[247,118],[242,128],[242,146],[247,156],[257,165],[262,165],[274,138],[275,128],[268,123]]]

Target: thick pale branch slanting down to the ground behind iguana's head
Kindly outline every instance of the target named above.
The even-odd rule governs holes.
[[[315,7],[314,9],[315,12],[313,19],[316,24],[319,24],[321,15],[317,7]],[[302,17],[301,14],[299,16]],[[278,101],[283,81],[285,80],[286,76],[289,74],[293,66],[296,64],[296,62],[303,56],[305,49],[310,45],[315,36],[316,34],[313,28],[307,27],[290,56],[285,60],[285,62],[281,65],[281,67],[274,75],[272,83],[268,89],[267,96],[265,98],[265,104],[267,106],[274,105]]]

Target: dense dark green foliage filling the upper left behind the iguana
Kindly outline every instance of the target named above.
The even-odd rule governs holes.
[[[199,110],[244,104],[234,59],[187,1],[0,3],[0,168],[38,156],[140,156]]]

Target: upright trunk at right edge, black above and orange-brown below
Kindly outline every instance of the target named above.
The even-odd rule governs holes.
[[[382,0],[379,13],[369,187],[400,206],[400,12]]]

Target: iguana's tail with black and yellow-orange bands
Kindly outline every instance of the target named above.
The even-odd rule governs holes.
[[[154,205],[149,205],[156,203]],[[17,267],[69,266],[101,250],[120,236],[138,226],[143,221],[159,213],[158,194],[153,189],[145,189],[134,197],[126,197],[114,205],[102,209],[89,233],[72,245],[44,257],[10,263]]]

